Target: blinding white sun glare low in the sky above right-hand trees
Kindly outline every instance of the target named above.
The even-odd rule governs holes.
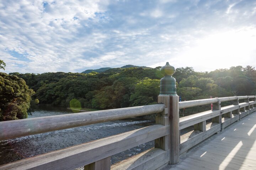
[[[185,65],[198,65],[197,67],[205,65],[204,71],[212,70],[211,66],[215,69],[216,66],[219,68],[243,66],[249,62],[244,60],[243,56],[252,56],[255,53],[255,43],[255,28],[223,30],[193,40],[191,42],[193,45],[187,46],[181,56],[185,59],[183,60]]]

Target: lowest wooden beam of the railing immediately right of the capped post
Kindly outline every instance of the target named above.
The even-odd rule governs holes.
[[[191,135],[189,133],[182,135],[181,144],[180,144],[180,154],[182,154],[183,152],[186,152],[188,149],[202,142],[206,138],[214,135],[216,132],[219,132],[220,130],[221,130],[220,124],[213,123],[213,124],[208,124],[207,130],[204,132],[194,131],[195,135]]]

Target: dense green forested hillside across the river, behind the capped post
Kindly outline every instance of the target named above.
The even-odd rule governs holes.
[[[156,103],[162,75],[159,68],[114,68],[103,73],[19,74],[41,104],[69,106],[72,99],[84,108],[121,108]],[[177,94],[183,100],[256,94],[256,71],[251,66],[195,72],[176,69]]]

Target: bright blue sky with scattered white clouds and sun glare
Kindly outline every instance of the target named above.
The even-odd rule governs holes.
[[[256,67],[255,0],[0,0],[5,73]]]

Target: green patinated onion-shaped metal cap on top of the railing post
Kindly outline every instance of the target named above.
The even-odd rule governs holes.
[[[164,75],[160,80],[160,95],[177,96],[176,80],[172,77],[172,74],[175,73],[175,68],[170,66],[169,62],[166,62],[160,72]]]

